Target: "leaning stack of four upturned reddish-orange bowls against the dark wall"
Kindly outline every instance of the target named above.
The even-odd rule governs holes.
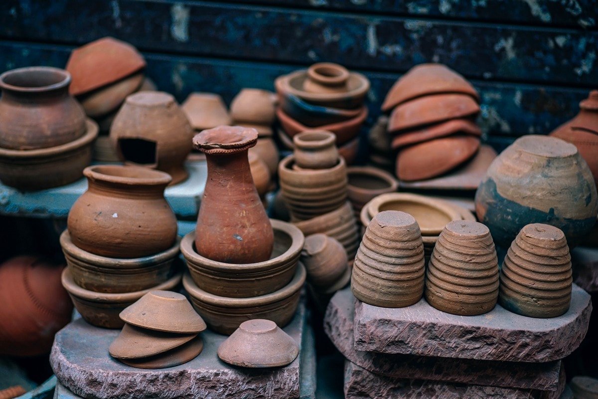
[[[472,159],[480,148],[479,100],[468,81],[440,64],[417,65],[396,81],[382,104],[399,151],[396,176],[429,179]]]

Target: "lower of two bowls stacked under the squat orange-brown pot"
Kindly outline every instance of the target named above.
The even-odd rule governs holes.
[[[72,278],[71,271],[67,267],[62,272],[62,286],[68,291],[71,300],[81,313],[81,317],[89,324],[103,328],[122,328],[124,321],[118,317],[118,313],[124,308],[138,301],[142,296],[154,290],[173,290],[181,282],[182,273],[178,273],[162,284],[147,290],[134,291],[131,293],[96,293],[79,287]]]

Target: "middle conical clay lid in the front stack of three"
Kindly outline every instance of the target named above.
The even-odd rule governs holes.
[[[196,336],[197,334],[164,333],[125,324],[110,344],[108,352],[118,359],[147,358],[177,348]]]

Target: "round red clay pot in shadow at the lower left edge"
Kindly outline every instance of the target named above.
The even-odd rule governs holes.
[[[71,321],[72,303],[60,286],[62,269],[30,255],[0,265],[0,355],[50,352],[54,334]]]

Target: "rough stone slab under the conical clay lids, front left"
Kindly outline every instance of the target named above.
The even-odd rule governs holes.
[[[283,328],[300,343],[301,352],[306,345],[313,345],[304,340],[304,328],[309,327],[304,301],[301,301],[297,314]],[[200,333],[203,351],[194,360],[176,367],[144,370],[126,366],[108,354],[108,346],[119,331],[94,327],[83,319],[60,330],[50,354],[50,364],[59,382],[75,395],[87,399],[301,397],[300,366],[304,360],[301,352],[286,367],[230,366],[216,355],[218,346],[227,336],[205,330]],[[304,397],[313,398],[313,395]]]

